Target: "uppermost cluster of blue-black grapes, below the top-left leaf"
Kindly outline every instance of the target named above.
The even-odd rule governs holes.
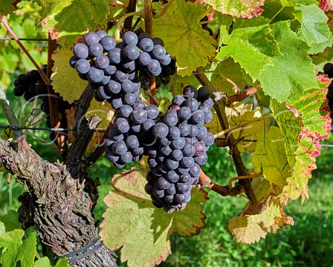
[[[126,31],[122,42],[105,31],[90,32],[83,43],[74,46],[69,60],[78,76],[88,80],[94,88],[97,101],[108,101],[114,110],[123,105],[133,106],[142,86],[138,72],[159,76],[167,67],[171,56],[165,51],[163,41],[142,33]]]

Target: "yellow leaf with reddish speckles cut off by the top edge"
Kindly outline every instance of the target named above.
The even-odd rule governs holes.
[[[262,14],[262,8],[260,6],[264,5],[265,0],[203,0],[208,3],[214,10],[225,14],[231,15],[232,17],[246,17],[248,19],[257,17]]]

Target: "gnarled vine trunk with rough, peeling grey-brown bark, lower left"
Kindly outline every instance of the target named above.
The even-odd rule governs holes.
[[[67,160],[51,164],[43,160],[21,136],[15,141],[0,139],[0,163],[24,183],[27,192],[20,197],[22,207],[19,218],[24,228],[35,226],[42,244],[51,249],[55,257],[74,252],[92,241],[96,244],[87,248],[91,254],[70,262],[73,267],[114,267],[114,252],[98,241],[92,210],[98,199],[94,180],[85,171],[87,161],[83,155],[100,119],[92,116],[85,119],[89,99],[93,90],[87,88],[78,103],[76,115],[76,142],[72,144]],[[87,101],[87,102],[81,102]],[[75,257],[74,255],[73,257]]]

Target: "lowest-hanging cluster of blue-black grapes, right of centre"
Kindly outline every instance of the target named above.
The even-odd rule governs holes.
[[[207,162],[206,151],[214,143],[204,126],[212,120],[210,96],[208,87],[197,90],[188,85],[153,127],[157,146],[148,157],[151,171],[145,189],[155,207],[172,212],[183,209],[191,199],[191,185],[198,183],[200,166]]]

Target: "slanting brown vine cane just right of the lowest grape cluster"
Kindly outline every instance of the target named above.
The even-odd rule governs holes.
[[[210,83],[210,80],[208,80],[203,69],[201,69],[200,67],[196,69],[196,71],[194,72],[194,76],[196,76],[201,85],[210,87],[210,89],[212,89],[213,94],[217,92],[212,83]],[[219,118],[219,122],[221,124],[222,129],[227,130],[228,128],[230,128],[227,116],[225,114],[225,103],[221,100],[216,101],[216,99],[214,99],[214,109],[216,110],[216,114],[217,117]],[[235,141],[236,140],[234,139],[232,132],[230,132],[228,134],[227,142],[228,146],[230,147],[230,151],[232,151],[231,154],[232,160],[234,161],[234,166],[236,167],[237,174],[239,176],[248,175],[248,171],[244,166],[244,162],[241,160],[241,155],[239,153],[239,150],[237,146],[234,146],[234,144],[236,144]],[[241,180],[239,183],[244,184],[246,196],[248,196],[248,199],[251,201],[251,203],[257,203],[257,198],[255,197],[255,193],[253,192],[251,181]]]

